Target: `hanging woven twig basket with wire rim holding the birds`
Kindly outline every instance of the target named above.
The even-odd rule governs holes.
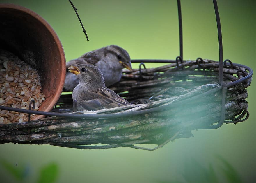
[[[245,88],[251,83],[250,68],[225,61],[223,87],[219,84],[219,63],[216,61],[157,62],[169,64],[125,71],[121,81],[110,87],[133,105],[68,113],[74,117],[63,113],[60,117],[1,124],[1,143],[51,144],[79,149],[133,147],[154,150],[176,138],[193,136],[191,130],[221,126],[218,124],[223,123],[223,91],[224,123],[242,122],[248,118]],[[72,96],[62,95],[57,105],[55,112],[69,111]],[[102,145],[90,145],[99,143]],[[135,144],[158,146],[147,149]]]

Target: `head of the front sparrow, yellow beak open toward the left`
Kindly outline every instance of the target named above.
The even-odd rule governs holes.
[[[78,76],[80,83],[85,83],[88,87],[105,87],[102,72],[94,65],[71,65],[68,69]]]

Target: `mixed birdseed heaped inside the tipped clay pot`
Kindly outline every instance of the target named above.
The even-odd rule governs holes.
[[[13,53],[0,49],[0,105],[29,109],[29,103],[34,99],[34,110],[37,111],[45,99],[41,91],[37,70]],[[34,116],[31,114],[31,119]],[[24,121],[28,121],[28,114],[0,109],[0,123]]]

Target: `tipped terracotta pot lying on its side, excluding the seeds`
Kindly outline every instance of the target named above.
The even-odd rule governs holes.
[[[61,96],[66,75],[63,47],[51,26],[27,8],[0,4],[0,47],[37,69],[45,95],[39,111],[51,111]],[[33,120],[42,117],[37,115]]]

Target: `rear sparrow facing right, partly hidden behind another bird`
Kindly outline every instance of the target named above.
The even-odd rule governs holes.
[[[122,76],[122,69],[131,69],[131,58],[126,50],[110,45],[91,52],[67,62],[67,69],[70,65],[91,64],[98,67],[104,77],[105,85],[108,87],[118,82]],[[79,79],[71,73],[66,74],[64,91],[72,91],[79,83]]]

